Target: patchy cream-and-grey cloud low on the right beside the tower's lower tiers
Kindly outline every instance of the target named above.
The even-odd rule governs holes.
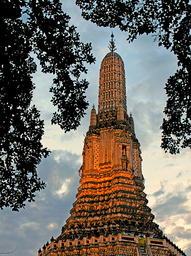
[[[182,172],[182,176],[184,175]],[[182,182],[160,181],[160,189],[149,195],[155,222],[186,254],[189,254],[191,249],[190,191],[186,192],[190,182],[190,178]]]

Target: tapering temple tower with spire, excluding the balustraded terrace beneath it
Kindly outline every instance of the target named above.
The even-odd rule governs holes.
[[[98,114],[91,110],[84,140],[81,186],[62,236],[120,231],[160,238],[143,192],[140,144],[127,114],[123,60],[113,52],[113,37],[110,43],[111,52],[100,68]]]

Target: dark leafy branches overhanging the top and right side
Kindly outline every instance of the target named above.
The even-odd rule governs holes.
[[[166,83],[167,105],[163,119],[165,152],[191,148],[191,5],[189,0],[76,0],[82,16],[98,26],[119,26],[129,33],[129,42],[143,33],[158,45],[171,49],[179,69]]]

